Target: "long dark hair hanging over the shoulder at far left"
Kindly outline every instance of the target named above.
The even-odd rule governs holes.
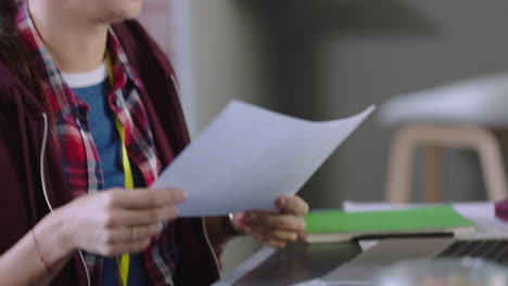
[[[0,61],[34,92],[51,117],[48,100],[14,23],[17,9],[16,0],[0,0]]]

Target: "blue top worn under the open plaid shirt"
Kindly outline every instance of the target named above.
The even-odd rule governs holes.
[[[104,188],[124,187],[125,176],[122,165],[122,141],[116,129],[115,116],[107,103],[111,90],[106,78],[94,86],[73,88],[73,91],[90,107],[88,122],[99,152],[104,172]],[[137,187],[145,186],[139,169],[131,164],[134,183]],[[104,258],[102,285],[119,285],[116,259]],[[128,285],[151,285],[151,280],[141,253],[130,255]]]

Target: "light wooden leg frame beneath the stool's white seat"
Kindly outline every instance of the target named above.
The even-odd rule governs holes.
[[[500,132],[500,131],[499,131]],[[423,200],[443,200],[443,156],[444,147],[469,148],[480,158],[487,198],[506,198],[507,184],[503,152],[494,130],[478,126],[454,126],[437,123],[410,123],[401,128],[393,141],[389,162],[386,200],[409,202],[412,166],[418,146],[423,147]]]

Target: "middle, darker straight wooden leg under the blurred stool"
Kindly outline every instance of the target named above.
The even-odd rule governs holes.
[[[443,202],[443,148],[436,145],[423,147],[423,202]]]

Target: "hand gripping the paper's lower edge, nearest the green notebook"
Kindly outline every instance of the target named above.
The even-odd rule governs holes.
[[[308,212],[307,203],[299,196],[281,196],[276,204],[279,212],[246,211],[234,214],[234,229],[275,248],[296,242],[305,232],[303,218]]]

